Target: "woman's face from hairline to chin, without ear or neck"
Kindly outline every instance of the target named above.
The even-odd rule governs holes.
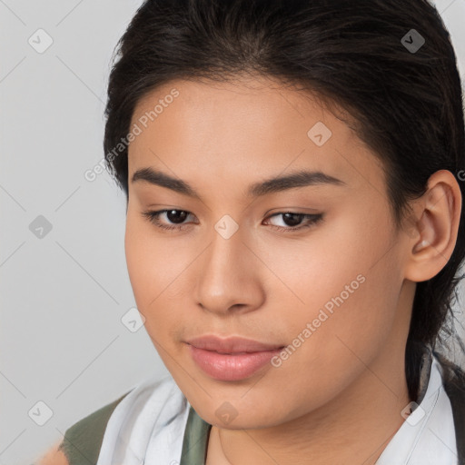
[[[134,124],[125,252],[135,301],[204,420],[217,424],[222,409],[233,429],[296,419],[401,345],[404,242],[381,163],[341,119],[250,78],[173,81],[139,102]],[[211,334],[284,349],[236,379],[219,369],[222,379],[186,343]]]

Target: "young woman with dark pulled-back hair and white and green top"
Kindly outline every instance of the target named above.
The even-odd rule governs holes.
[[[465,375],[441,353],[464,120],[430,3],[147,0],[106,117],[135,300],[172,376],[42,463],[465,463]]]

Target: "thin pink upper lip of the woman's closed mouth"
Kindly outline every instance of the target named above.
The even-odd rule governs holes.
[[[234,336],[223,339],[218,336],[214,336],[213,334],[193,338],[186,342],[198,349],[217,351],[220,353],[273,351],[284,347],[279,344],[267,344],[260,341],[253,341],[252,339]]]

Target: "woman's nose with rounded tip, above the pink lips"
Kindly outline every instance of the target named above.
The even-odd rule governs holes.
[[[214,231],[212,241],[196,262],[194,298],[205,312],[226,316],[262,306],[263,264],[241,229],[229,238]]]

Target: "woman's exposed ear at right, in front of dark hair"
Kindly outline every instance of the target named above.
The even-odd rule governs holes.
[[[411,217],[409,256],[405,278],[428,281],[449,262],[459,232],[461,192],[454,175],[447,170],[431,174],[424,193]]]

